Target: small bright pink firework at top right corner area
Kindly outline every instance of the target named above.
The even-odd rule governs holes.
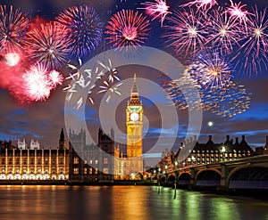
[[[247,4],[234,4],[232,0],[230,0],[230,7],[227,9],[227,12],[230,13],[231,18],[235,18],[239,20],[240,23],[244,22],[245,26],[247,27],[247,10],[244,9]]]

